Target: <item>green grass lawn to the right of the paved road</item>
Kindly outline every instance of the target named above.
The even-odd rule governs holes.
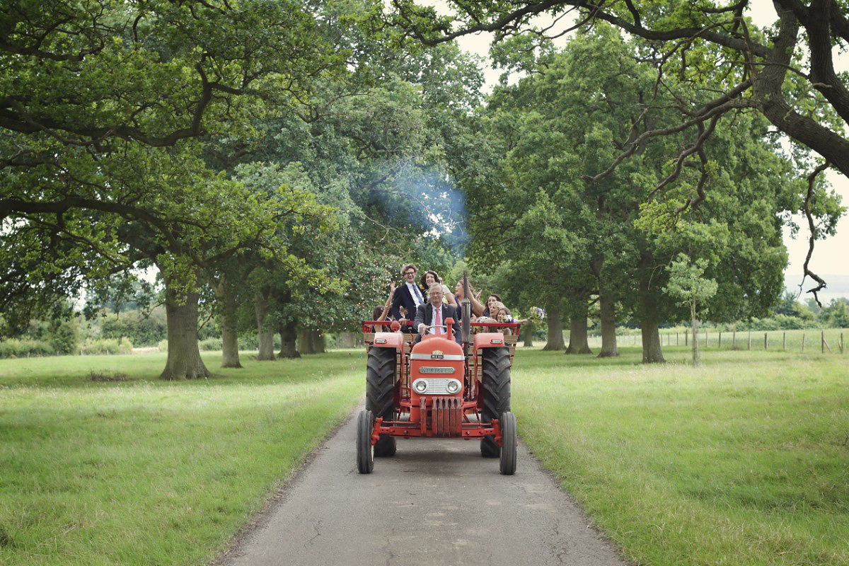
[[[664,353],[520,349],[520,436],[636,563],[849,564],[849,356]]]

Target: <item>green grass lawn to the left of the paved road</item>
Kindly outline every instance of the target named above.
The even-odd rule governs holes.
[[[208,563],[363,396],[359,352],[204,357],[0,360],[0,563]]]

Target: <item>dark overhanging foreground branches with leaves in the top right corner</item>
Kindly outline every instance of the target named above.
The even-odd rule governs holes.
[[[849,41],[846,3],[840,0],[777,0],[772,29],[752,25],[748,0],[734,3],[592,3],[547,0],[448,2],[452,13],[413,0],[393,0],[394,22],[425,44],[451,41],[481,31],[495,42],[512,36],[546,38],[592,26],[616,25],[645,42],[645,57],[659,70],[658,91],[667,76],[687,84],[679,99],[679,123],[644,132],[629,140],[627,151],[650,137],[705,125],[734,109],[756,109],[773,126],[822,155],[849,177],[849,90],[846,76],[835,71],[833,48]],[[546,28],[534,18],[547,15]],[[576,23],[570,25],[574,20]],[[674,92],[674,91],[673,91]]]

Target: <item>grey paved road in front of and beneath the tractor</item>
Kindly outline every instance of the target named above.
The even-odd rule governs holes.
[[[627,564],[521,443],[514,476],[498,474],[475,440],[430,439],[398,439],[395,457],[361,475],[355,420],[222,566]]]

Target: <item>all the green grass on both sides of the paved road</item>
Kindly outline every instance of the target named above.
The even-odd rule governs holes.
[[[664,353],[520,348],[520,436],[636,563],[849,564],[849,355]],[[0,563],[208,563],[363,395],[362,350],[204,356],[0,360]]]

